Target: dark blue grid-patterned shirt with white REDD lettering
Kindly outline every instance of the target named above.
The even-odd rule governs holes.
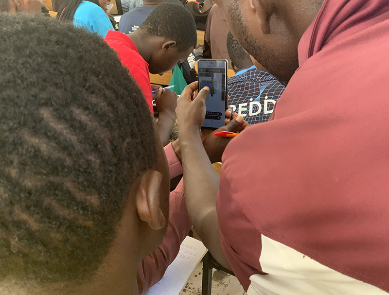
[[[250,125],[265,122],[284,88],[274,76],[252,66],[228,79],[228,104]]]

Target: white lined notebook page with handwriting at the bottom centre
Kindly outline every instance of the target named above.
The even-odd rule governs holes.
[[[163,278],[145,295],[178,295],[205,253],[207,248],[202,242],[186,237]]]

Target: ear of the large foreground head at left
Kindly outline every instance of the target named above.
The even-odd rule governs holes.
[[[141,221],[148,223],[159,230],[165,226],[166,219],[160,208],[160,191],[162,174],[155,170],[148,170],[141,176],[139,190],[136,195],[136,206]]]

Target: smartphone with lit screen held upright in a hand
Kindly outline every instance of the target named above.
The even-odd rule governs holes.
[[[227,109],[227,59],[198,60],[198,90],[210,88],[210,94],[205,101],[207,113],[203,127],[217,129],[224,126],[224,113]]]

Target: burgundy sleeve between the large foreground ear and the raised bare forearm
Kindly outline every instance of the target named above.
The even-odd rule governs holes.
[[[182,167],[171,144],[165,147],[170,177],[182,174]],[[159,282],[167,267],[176,259],[179,247],[188,235],[192,224],[186,210],[183,179],[170,193],[169,224],[166,236],[159,247],[141,261],[137,274],[136,295],[140,295]]]

